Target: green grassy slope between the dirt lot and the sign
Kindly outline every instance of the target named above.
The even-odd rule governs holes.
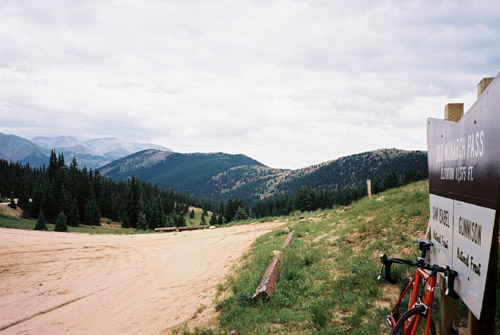
[[[371,202],[362,199],[347,211],[306,213],[305,221],[285,218],[296,235],[283,251],[269,301],[252,303],[250,297],[287,229],[258,239],[243,265],[219,285],[216,329],[180,327],[177,333],[387,334],[385,318],[399,286],[377,280],[379,255],[415,258],[414,241],[424,237],[428,216],[428,184],[418,182]],[[395,278],[409,274],[405,267],[393,270]]]

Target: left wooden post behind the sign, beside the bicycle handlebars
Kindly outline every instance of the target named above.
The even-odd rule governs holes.
[[[464,116],[463,103],[450,103],[444,107],[444,119],[458,122]],[[455,320],[458,319],[458,300],[444,294],[446,292],[446,282],[444,277],[439,276],[440,292],[440,332],[441,335],[456,335],[458,332],[454,328]]]

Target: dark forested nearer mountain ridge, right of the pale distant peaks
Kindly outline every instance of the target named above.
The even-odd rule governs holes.
[[[408,174],[423,178],[427,169],[426,152],[381,149],[298,170],[270,168],[245,155],[145,150],[99,170],[113,180],[127,180],[135,175],[142,181],[196,197],[239,197],[252,202],[296,192],[306,185],[317,190],[358,187],[366,179],[383,181],[392,171],[400,180]]]

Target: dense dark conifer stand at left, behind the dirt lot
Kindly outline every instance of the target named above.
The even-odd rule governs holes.
[[[10,198],[23,216],[56,222],[62,214],[69,226],[100,225],[103,217],[142,230],[183,226],[189,206],[206,210],[213,206],[135,177],[114,182],[99,170],[79,169],[76,159],[68,167],[64,155],[57,157],[55,150],[48,168],[0,160],[0,181],[0,198]]]

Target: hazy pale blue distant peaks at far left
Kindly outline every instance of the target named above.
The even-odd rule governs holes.
[[[64,154],[69,163],[76,157],[80,167],[97,169],[112,161],[145,149],[171,151],[171,149],[150,143],[129,143],[115,137],[95,138],[86,141],[73,136],[42,137],[31,140],[0,133],[0,158],[33,167],[48,166],[50,151]]]

